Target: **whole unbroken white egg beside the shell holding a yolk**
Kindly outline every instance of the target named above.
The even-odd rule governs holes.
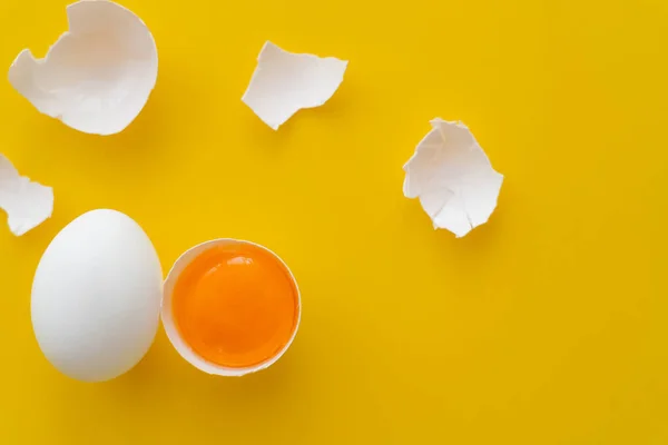
[[[160,261],[141,227],[121,212],[94,210],[45,251],[32,284],[32,327],[61,373],[104,382],[147,353],[161,298]]]

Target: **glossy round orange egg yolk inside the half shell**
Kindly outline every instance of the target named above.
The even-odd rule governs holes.
[[[195,353],[239,368],[278,354],[299,308],[294,279],[278,258],[258,246],[230,244],[205,250],[184,269],[171,310]]]

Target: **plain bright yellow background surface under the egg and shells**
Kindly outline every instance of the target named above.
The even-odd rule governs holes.
[[[42,55],[66,0],[0,2],[0,60]],[[160,72],[124,134],[79,134],[4,81],[0,151],[56,190],[53,218],[0,230],[3,444],[668,443],[668,2],[141,1]],[[265,41],[351,60],[325,107],[278,132],[239,100]],[[402,196],[436,116],[505,175],[455,240]],[[292,267],[287,355],[208,377],[164,332],[114,382],[58,374],[32,336],[49,240],[110,207],[165,270],[239,237]]]

